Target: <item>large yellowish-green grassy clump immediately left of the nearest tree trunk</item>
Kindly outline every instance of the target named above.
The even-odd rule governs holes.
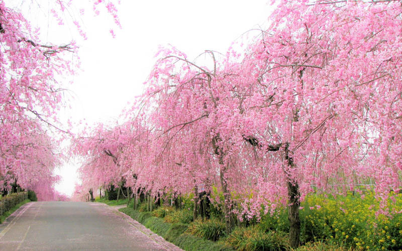
[[[257,226],[235,228],[227,238],[238,250],[288,250],[288,236],[283,232],[264,232]]]

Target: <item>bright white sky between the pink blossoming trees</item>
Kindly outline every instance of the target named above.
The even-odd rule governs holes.
[[[87,3],[81,1],[77,3]],[[118,6],[122,24],[119,29],[106,13],[94,17],[89,6],[82,19],[86,41],[71,31],[74,26],[66,32],[47,24],[50,30],[42,29],[42,33],[48,41],[66,43],[73,37],[80,45],[83,72],[73,77],[69,87],[72,109],[63,116],[72,116],[74,122],[85,119],[88,124],[116,120],[127,102],[142,93],[159,45],[171,44],[189,59],[205,50],[225,53],[243,33],[258,25],[265,26],[270,8],[266,0],[126,0]],[[30,15],[39,20],[44,12],[47,11],[31,10]],[[78,17],[73,10],[71,13],[73,18]],[[115,39],[109,33],[111,28],[115,30]],[[79,165],[78,161],[71,161],[57,170],[63,178],[56,185],[58,191],[72,194]]]

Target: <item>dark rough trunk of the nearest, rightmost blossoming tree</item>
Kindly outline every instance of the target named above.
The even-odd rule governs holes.
[[[294,163],[293,158],[289,156],[288,146],[288,144],[285,146],[285,159],[289,165],[288,167],[292,169],[294,168]],[[298,212],[300,207],[300,192],[297,181],[291,177],[288,178],[287,181],[287,196],[289,200],[287,206],[287,217],[290,223],[289,244],[291,247],[297,248],[300,244],[300,217]]]

